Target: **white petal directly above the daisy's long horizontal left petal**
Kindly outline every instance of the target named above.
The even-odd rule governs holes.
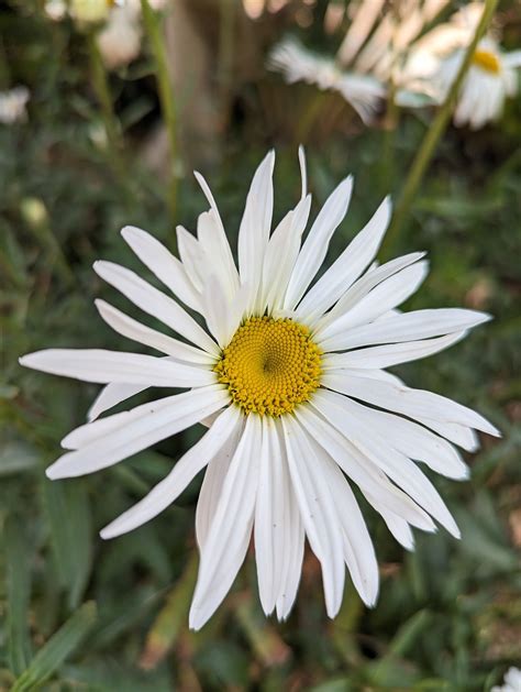
[[[102,319],[122,337],[157,349],[178,361],[188,361],[198,365],[211,365],[215,361],[214,356],[206,351],[145,327],[104,300],[97,299],[95,304]]]

